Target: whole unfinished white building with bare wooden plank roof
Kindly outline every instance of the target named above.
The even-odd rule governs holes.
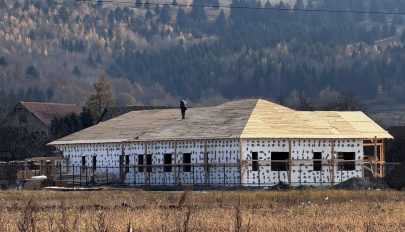
[[[362,112],[302,112],[253,99],[192,108],[184,120],[178,109],[133,111],[50,145],[80,167],[75,172],[88,167],[127,184],[328,185],[384,175],[389,138]]]

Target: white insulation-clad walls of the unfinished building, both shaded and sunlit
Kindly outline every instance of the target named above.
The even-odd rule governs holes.
[[[123,152],[121,151],[123,147]],[[92,167],[93,156],[97,158],[96,174],[107,174],[109,179],[119,179],[120,155],[128,155],[129,170],[124,182],[129,185],[239,185],[240,173],[244,185],[273,185],[279,181],[288,183],[288,171],[272,171],[271,152],[289,152],[287,139],[244,139],[240,147],[239,139],[213,139],[193,141],[152,141],[128,143],[100,143],[59,145],[59,150],[69,159],[70,172],[81,172],[82,156],[86,166]],[[146,149],[146,150],[145,150]],[[240,149],[242,149],[242,170],[239,169]],[[204,153],[207,151],[209,167],[204,166]],[[334,182],[338,183],[351,177],[363,176],[363,141],[361,139],[335,140],[335,159],[338,152],[355,152],[355,170],[338,170],[334,166]],[[258,152],[259,170],[252,171],[250,161],[252,152]],[[314,171],[313,153],[321,152],[322,171]],[[183,153],[191,153],[191,171],[184,172],[182,167],[163,172],[164,154],[172,154],[173,164],[183,163]],[[138,155],[152,155],[152,172],[139,172]],[[328,185],[332,181],[332,141],[329,139],[291,140],[291,184]],[[175,157],[176,161],[175,161]],[[146,157],[144,157],[146,162]],[[244,161],[248,161],[247,163]],[[217,164],[217,165],[212,165]],[[194,167],[193,167],[194,166]],[[144,167],[146,170],[146,167]],[[123,169],[121,169],[122,171]],[[178,178],[175,178],[178,175]],[[207,175],[207,176],[206,176]]]

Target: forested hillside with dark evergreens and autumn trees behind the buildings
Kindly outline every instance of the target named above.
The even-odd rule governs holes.
[[[118,104],[405,103],[405,14],[376,13],[403,0],[146,1],[0,0],[0,111],[81,104],[102,73]]]

